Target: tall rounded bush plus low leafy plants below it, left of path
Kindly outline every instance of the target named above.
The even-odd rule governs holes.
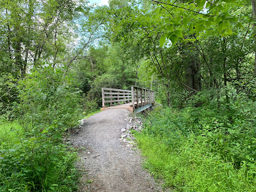
[[[0,191],[77,189],[77,155],[62,143],[82,115],[80,91],[72,83],[72,77],[51,67],[19,81],[14,108],[20,123],[0,124]]]

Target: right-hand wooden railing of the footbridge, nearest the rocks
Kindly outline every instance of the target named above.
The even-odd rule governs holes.
[[[132,106],[134,109],[152,105],[155,102],[153,90],[132,86]]]

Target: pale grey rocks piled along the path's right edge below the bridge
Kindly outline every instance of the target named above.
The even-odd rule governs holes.
[[[129,122],[126,127],[121,129],[122,134],[120,135],[119,141],[125,144],[125,147],[134,147],[134,136],[132,131],[141,132],[142,130],[142,119],[141,117],[127,117],[125,120]]]

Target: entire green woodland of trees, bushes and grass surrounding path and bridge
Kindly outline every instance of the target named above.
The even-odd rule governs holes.
[[[176,191],[256,189],[256,1],[3,0],[0,189],[75,191],[72,127],[101,88],[156,90],[136,134]]]

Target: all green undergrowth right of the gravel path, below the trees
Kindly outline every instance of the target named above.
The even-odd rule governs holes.
[[[145,168],[174,191],[256,191],[255,104],[158,108],[136,134]]]

